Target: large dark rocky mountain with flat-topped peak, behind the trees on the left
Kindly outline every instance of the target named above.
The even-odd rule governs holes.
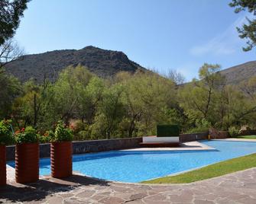
[[[38,83],[44,76],[55,81],[58,73],[69,65],[84,65],[99,77],[109,78],[117,72],[136,72],[146,70],[128,59],[125,53],[86,46],[83,49],[55,50],[47,53],[25,55],[8,63],[5,69],[21,81],[36,79]]]

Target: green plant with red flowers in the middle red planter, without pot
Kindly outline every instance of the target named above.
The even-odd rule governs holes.
[[[21,144],[21,143],[37,143],[39,139],[38,139],[37,131],[33,127],[28,126],[26,128],[23,128],[15,132],[15,140],[17,144]]]

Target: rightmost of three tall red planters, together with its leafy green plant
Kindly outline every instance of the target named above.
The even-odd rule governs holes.
[[[71,129],[65,128],[62,121],[59,121],[55,132],[49,132],[49,135],[51,135],[51,176],[55,178],[70,177],[73,168],[73,132]]]

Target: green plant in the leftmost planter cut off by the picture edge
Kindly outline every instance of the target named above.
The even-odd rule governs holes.
[[[12,145],[15,143],[11,129],[11,120],[0,122],[0,145]]]

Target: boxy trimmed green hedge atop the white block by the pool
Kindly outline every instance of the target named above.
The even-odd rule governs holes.
[[[157,137],[178,137],[180,136],[180,126],[178,125],[158,125]]]

